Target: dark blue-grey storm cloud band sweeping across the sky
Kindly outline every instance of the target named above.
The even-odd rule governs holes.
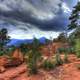
[[[62,12],[60,12],[62,13]],[[42,30],[64,30],[66,24],[66,17],[64,14],[56,14],[57,16],[51,20],[39,20],[34,17],[31,17],[32,13],[30,12],[19,12],[19,11],[0,11],[0,16],[3,18],[14,19],[21,21],[23,23],[29,23],[37,26]],[[15,25],[15,23],[14,23]]]

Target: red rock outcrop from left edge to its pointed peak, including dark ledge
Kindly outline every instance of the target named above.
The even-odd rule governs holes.
[[[19,49],[16,49],[9,60],[7,56],[0,56],[0,73],[4,72],[5,67],[15,67],[23,63],[23,55]]]

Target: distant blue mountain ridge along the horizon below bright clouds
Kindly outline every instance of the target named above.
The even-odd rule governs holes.
[[[46,38],[45,37],[41,37],[38,39],[40,41],[40,43],[45,43]],[[19,46],[20,44],[27,44],[27,43],[32,43],[33,39],[11,39],[11,41],[7,44],[7,46]]]

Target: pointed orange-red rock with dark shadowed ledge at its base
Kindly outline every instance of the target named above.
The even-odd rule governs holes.
[[[8,63],[5,65],[5,67],[17,67],[20,64],[22,64],[24,61],[23,54],[21,51],[17,48],[13,53],[12,53],[12,59],[8,61]]]

